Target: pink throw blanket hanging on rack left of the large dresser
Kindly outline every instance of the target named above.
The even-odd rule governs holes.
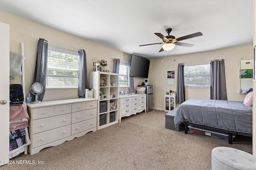
[[[28,127],[28,110],[27,105],[10,106],[10,131]]]

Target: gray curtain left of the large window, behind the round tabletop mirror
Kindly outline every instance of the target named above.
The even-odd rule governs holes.
[[[48,60],[48,42],[45,39],[40,38],[37,44],[36,51],[36,66],[34,70],[33,81],[39,82],[43,86],[43,91],[40,95],[38,95],[38,100],[42,101],[44,98],[44,92],[46,87],[46,79],[47,79],[47,60]],[[34,95],[31,95],[34,99]]]

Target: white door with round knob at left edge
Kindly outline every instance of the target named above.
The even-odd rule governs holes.
[[[0,166],[2,166],[9,160],[10,26],[1,22],[0,61]]]

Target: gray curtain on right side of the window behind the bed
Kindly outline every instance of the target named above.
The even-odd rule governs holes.
[[[228,100],[224,60],[211,61],[211,99]]]

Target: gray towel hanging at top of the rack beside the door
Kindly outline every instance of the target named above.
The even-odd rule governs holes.
[[[21,66],[22,66],[23,56],[18,53],[10,51],[10,79],[15,79],[15,76],[21,76]]]

